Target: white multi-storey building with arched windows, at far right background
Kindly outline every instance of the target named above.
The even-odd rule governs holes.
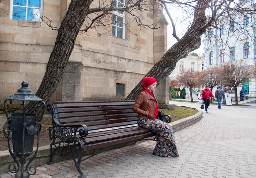
[[[217,26],[218,29],[209,28],[203,40],[204,67],[218,66],[225,62],[239,60],[243,60],[248,66],[254,65],[255,15],[245,14],[240,17],[226,17],[220,20]],[[255,78],[243,82],[238,87],[238,92],[242,88],[249,92],[255,92]]]

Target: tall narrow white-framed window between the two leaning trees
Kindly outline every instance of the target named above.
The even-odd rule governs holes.
[[[124,7],[125,0],[113,0],[114,7]],[[119,10],[112,13],[112,35],[125,39],[125,13]]]

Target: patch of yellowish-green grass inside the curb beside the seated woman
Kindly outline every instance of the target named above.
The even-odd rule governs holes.
[[[172,117],[172,122],[195,115],[198,110],[193,108],[175,106],[174,110],[163,110],[164,114],[168,114]]]

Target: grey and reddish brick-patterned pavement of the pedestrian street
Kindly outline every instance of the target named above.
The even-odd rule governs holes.
[[[198,103],[172,102],[200,109]],[[113,149],[82,164],[87,178],[256,177],[256,104],[210,105],[197,123],[175,132],[179,158],[152,155],[154,141]],[[73,160],[37,167],[31,178],[77,177]],[[14,177],[3,173],[0,178]]]

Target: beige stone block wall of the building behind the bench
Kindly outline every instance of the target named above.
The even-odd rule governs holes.
[[[58,32],[44,22],[10,20],[9,3],[4,0],[0,4],[1,102],[14,94],[24,80],[36,93]],[[69,3],[70,0],[44,1],[44,20],[46,16],[52,26],[59,27]],[[91,7],[97,4],[93,1]],[[126,29],[125,39],[103,34],[103,28],[79,34],[53,100],[125,99],[167,50],[167,22],[161,12],[142,14],[145,23],[163,19],[161,28],[155,30],[140,28],[127,18],[130,28]],[[125,84],[125,96],[116,95],[116,84]]]

